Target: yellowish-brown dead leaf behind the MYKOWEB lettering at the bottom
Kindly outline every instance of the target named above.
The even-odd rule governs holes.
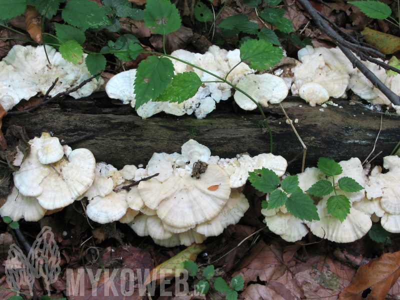
[[[203,244],[193,243],[180,253],[153,268],[148,274],[143,285],[147,285],[154,280],[162,280],[168,276],[175,276],[175,272],[176,274],[181,274],[182,272],[179,270],[182,269],[181,263],[185,260],[195,261],[197,254],[203,251],[205,248],[206,247]]]

